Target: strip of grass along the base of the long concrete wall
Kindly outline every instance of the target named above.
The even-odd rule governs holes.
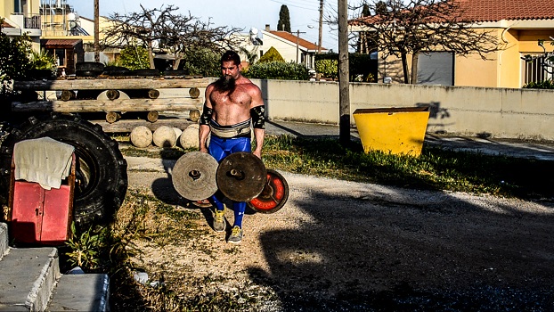
[[[123,149],[128,156],[177,160],[181,148]],[[341,180],[407,188],[488,193],[522,199],[554,198],[554,162],[457,152],[424,145],[420,157],[380,151],[363,152],[335,139],[267,135],[263,159],[267,168]]]

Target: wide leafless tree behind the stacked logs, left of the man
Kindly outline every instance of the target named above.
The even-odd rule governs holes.
[[[151,69],[154,68],[154,50],[174,56],[174,70],[183,56],[191,51],[208,49],[221,53],[238,46],[238,37],[231,36],[241,29],[213,27],[189,12],[177,13],[174,5],[159,9],[145,9],[129,14],[114,13],[112,24],[104,30],[103,46],[124,47],[143,45],[148,50]]]

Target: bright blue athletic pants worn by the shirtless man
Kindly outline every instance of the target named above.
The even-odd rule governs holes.
[[[248,137],[232,137],[224,139],[212,135],[209,139],[208,152],[214,156],[217,162],[221,162],[226,156],[232,152],[252,152],[252,145],[250,144],[250,136]],[[224,195],[221,192],[217,192],[212,196],[212,200],[216,203],[217,210],[224,210],[224,203],[222,202]],[[232,201],[232,209],[234,211],[234,224],[233,226],[239,226],[242,228],[242,217],[246,210],[246,201]]]

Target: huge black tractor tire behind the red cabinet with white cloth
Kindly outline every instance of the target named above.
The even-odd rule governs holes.
[[[53,114],[35,118],[12,128],[2,144],[3,168],[12,157],[13,144],[27,139],[49,136],[73,145],[77,155],[73,219],[83,228],[112,220],[126,196],[126,160],[118,143],[99,125],[76,116]],[[5,170],[4,170],[5,173]]]

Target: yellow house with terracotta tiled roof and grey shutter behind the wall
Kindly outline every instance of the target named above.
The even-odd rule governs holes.
[[[455,55],[449,51],[420,54],[418,83],[444,86],[484,86],[519,88],[530,81],[551,78],[539,66],[541,59],[525,62],[525,55],[540,55],[538,40],[554,37],[554,4],[551,0],[455,0],[461,16],[471,21],[476,31],[493,31],[503,45],[500,51],[479,55]],[[363,19],[371,19],[370,17]],[[363,27],[349,21],[352,31]],[[551,51],[551,45],[545,45]],[[381,53],[379,53],[381,54]],[[409,58],[410,59],[410,58]],[[398,59],[379,57],[379,78],[403,83],[403,71]]]

